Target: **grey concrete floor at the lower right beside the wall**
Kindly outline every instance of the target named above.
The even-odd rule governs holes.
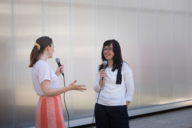
[[[129,123],[130,128],[192,128],[192,107],[134,117]]]

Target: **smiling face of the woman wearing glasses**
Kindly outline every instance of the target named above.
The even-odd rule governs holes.
[[[113,60],[115,53],[113,52],[113,44],[112,43],[103,48],[103,55],[107,60]]]

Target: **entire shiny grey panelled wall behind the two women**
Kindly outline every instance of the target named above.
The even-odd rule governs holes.
[[[35,125],[28,65],[43,35],[55,44],[53,70],[60,57],[66,84],[87,85],[66,93],[72,120],[93,115],[92,86],[108,39],[120,42],[134,73],[129,111],[192,100],[192,0],[0,0],[0,127]]]

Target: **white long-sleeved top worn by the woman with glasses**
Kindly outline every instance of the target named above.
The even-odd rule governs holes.
[[[126,105],[126,101],[132,101],[134,94],[134,80],[133,73],[129,65],[123,62],[122,65],[122,82],[116,84],[117,69],[113,72],[112,68],[106,68],[104,86],[101,90],[98,103],[106,106]],[[100,91],[99,86],[100,72],[97,70],[96,80],[94,83],[94,90],[96,94],[96,101]]]

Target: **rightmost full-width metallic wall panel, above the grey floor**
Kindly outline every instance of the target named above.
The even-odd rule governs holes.
[[[189,99],[189,1],[174,0],[175,101]]]

